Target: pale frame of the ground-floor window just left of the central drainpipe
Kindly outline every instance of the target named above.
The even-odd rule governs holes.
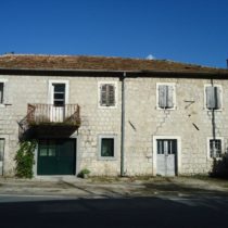
[[[114,139],[114,155],[113,156],[101,156],[101,141],[102,139]],[[115,134],[103,134],[98,136],[98,160],[100,161],[115,161],[117,159],[117,135]]]

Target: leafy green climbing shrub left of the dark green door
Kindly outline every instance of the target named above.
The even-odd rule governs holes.
[[[36,141],[20,142],[20,149],[16,151],[16,177],[33,178],[34,151],[36,149]]]

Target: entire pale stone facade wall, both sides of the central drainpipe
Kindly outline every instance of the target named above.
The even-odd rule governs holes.
[[[14,174],[14,156],[18,147],[18,122],[26,116],[27,103],[48,103],[49,80],[68,80],[71,104],[80,105],[81,126],[77,137],[77,172],[87,167],[92,175],[119,175],[121,172],[121,101],[122,84],[110,77],[0,76],[7,79],[4,103],[0,106],[0,138],[7,139],[4,175]],[[100,109],[99,81],[117,83],[117,107]],[[175,83],[176,109],[157,110],[156,84]],[[204,105],[204,85],[210,79],[127,78],[125,174],[153,174],[153,137],[178,136],[181,139],[179,174],[206,173],[211,167],[207,137],[212,137],[212,112]],[[223,87],[223,110],[215,112],[216,136],[228,148],[228,83]],[[98,136],[115,135],[116,160],[99,160]]]

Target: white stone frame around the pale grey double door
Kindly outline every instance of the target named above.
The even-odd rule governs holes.
[[[153,136],[153,152],[152,152],[152,156],[153,156],[153,162],[152,162],[152,172],[153,172],[153,176],[156,176],[156,140],[157,139],[176,139],[177,140],[177,154],[176,154],[176,172],[177,172],[177,176],[181,174],[181,138],[179,136]]]

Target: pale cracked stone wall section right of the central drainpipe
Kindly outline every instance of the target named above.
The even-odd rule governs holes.
[[[156,84],[175,83],[176,109],[156,107]],[[181,153],[178,174],[202,174],[211,168],[207,137],[213,136],[212,112],[204,105],[204,85],[210,79],[131,78],[126,81],[126,174],[153,172],[153,137],[178,136]],[[228,148],[228,83],[223,87],[223,110],[215,111],[216,137]],[[164,137],[165,138],[165,137]]]

